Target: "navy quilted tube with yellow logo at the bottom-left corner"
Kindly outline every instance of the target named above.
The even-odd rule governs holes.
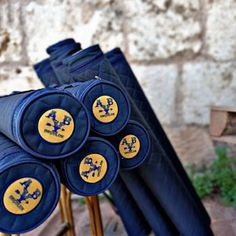
[[[0,135],[0,231],[21,234],[35,229],[51,215],[59,196],[54,166]]]

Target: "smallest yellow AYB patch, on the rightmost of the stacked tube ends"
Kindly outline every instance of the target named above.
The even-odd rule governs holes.
[[[122,157],[131,159],[138,155],[140,151],[140,141],[135,135],[126,135],[120,141],[119,152]]]

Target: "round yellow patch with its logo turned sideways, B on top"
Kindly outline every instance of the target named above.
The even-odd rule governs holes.
[[[97,183],[107,172],[106,159],[97,153],[89,154],[80,163],[79,173],[87,183]]]

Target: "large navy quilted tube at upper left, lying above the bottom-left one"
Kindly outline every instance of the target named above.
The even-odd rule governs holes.
[[[37,157],[69,156],[88,137],[87,109],[65,91],[46,88],[14,93],[0,102],[0,131]]]

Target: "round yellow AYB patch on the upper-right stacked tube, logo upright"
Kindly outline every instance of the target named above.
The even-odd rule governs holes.
[[[102,123],[109,123],[115,120],[119,108],[114,98],[104,95],[98,97],[93,103],[93,115]]]

